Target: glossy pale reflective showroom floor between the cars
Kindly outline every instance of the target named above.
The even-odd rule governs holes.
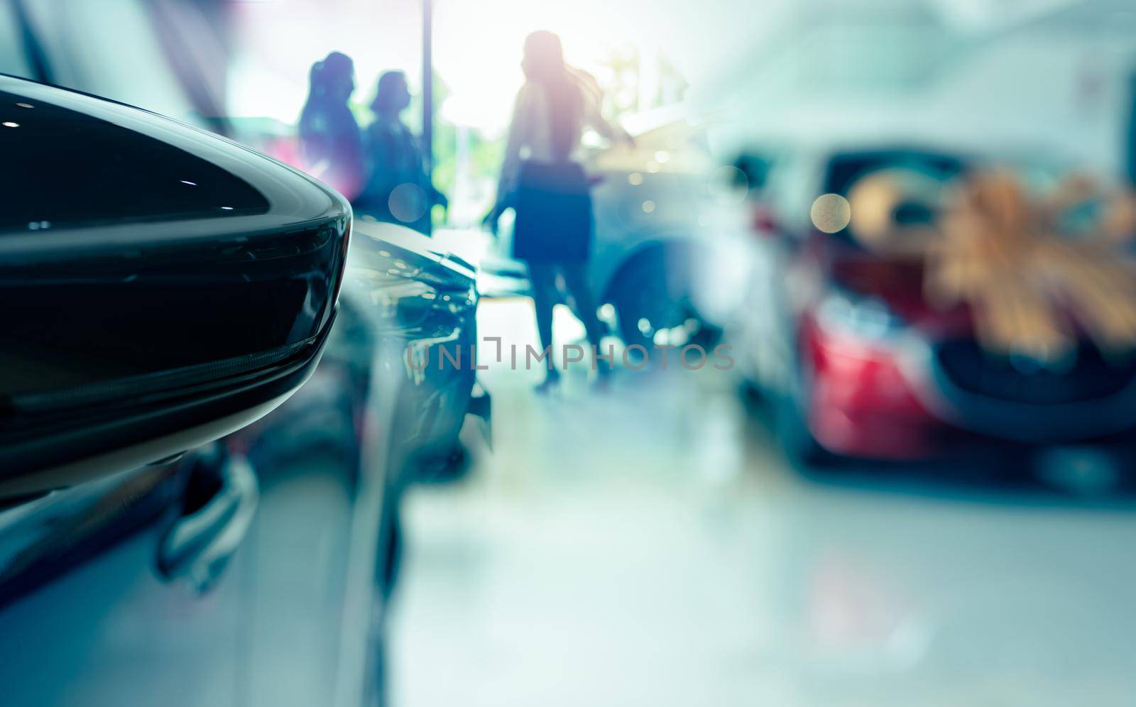
[[[720,375],[483,377],[492,455],[409,498],[394,707],[1136,704],[1124,501],[807,480]]]

